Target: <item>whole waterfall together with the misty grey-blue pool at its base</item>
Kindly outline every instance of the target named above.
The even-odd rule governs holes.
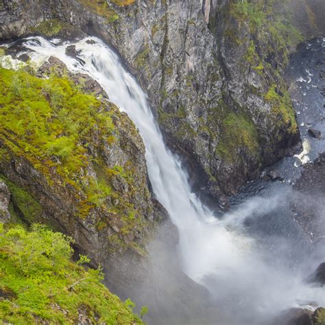
[[[23,40],[32,61],[40,64],[56,56],[69,70],[90,75],[134,121],[145,143],[154,194],[180,232],[182,268],[212,293],[225,313],[229,309],[229,322],[261,324],[261,317],[292,306],[325,306],[324,289],[304,281],[309,271],[304,265],[314,266],[325,256],[317,252],[315,258],[298,224],[288,220],[288,184],[280,191],[268,189],[267,195],[255,184],[254,191],[237,197],[234,210],[216,219],[191,192],[189,176],[165,146],[145,93],[114,51],[98,38],[84,38],[74,43],[77,60],[65,54],[70,44],[40,37]],[[233,307],[240,318],[231,315]]]

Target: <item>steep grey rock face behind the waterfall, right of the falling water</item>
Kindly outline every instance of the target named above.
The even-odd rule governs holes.
[[[291,9],[259,2],[247,11],[240,1],[204,1],[203,7],[194,0],[112,1],[104,8],[96,1],[38,0],[24,1],[24,10],[21,1],[5,1],[0,36],[32,27],[44,33],[41,22],[56,17],[106,40],[147,91],[193,185],[222,201],[265,165],[292,154],[299,141],[281,75],[301,38],[284,16],[267,16]],[[35,28],[39,23],[42,29]]]

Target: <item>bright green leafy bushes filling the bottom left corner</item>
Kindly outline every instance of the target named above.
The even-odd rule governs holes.
[[[0,224],[0,319],[10,324],[143,324],[101,284],[101,269],[87,270],[86,256],[71,261],[72,239],[34,225],[8,230]],[[142,313],[141,313],[142,315]]]

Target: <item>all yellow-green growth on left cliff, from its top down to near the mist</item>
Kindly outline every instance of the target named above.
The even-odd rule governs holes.
[[[102,156],[104,147],[119,140],[112,117],[125,123],[118,108],[82,93],[68,77],[40,79],[26,71],[2,68],[0,106],[0,173],[8,176],[10,160],[23,159],[36,170],[29,173],[29,184],[35,182],[56,193],[53,196],[68,195],[73,209],[70,217],[86,218],[96,210],[101,216],[98,230],[106,229],[110,222],[117,225],[120,245],[115,250],[132,248],[143,254],[143,248],[133,242],[134,233],[148,223],[134,208],[134,195],[139,192],[134,165],[127,161],[108,167]],[[42,211],[29,194],[31,189],[5,182],[12,191],[12,214],[28,224],[39,220]],[[116,189],[117,182],[128,190]]]

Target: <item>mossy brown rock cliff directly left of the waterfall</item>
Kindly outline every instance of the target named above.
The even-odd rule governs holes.
[[[126,250],[145,254],[162,210],[149,193],[139,132],[88,76],[55,58],[36,74],[50,77],[1,69],[0,172],[14,213],[64,230],[95,264]]]

